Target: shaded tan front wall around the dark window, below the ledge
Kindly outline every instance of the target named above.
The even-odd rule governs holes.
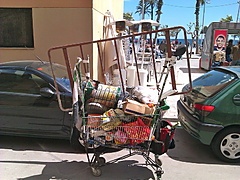
[[[33,8],[34,48],[1,48],[0,59],[36,59],[38,56],[48,60],[47,51],[53,46],[91,40],[91,24],[91,9]],[[59,58],[55,61],[62,63]]]

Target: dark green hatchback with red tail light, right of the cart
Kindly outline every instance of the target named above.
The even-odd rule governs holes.
[[[182,127],[221,160],[240,162],[240,67],[216,67],[189,90],[177,102]]]

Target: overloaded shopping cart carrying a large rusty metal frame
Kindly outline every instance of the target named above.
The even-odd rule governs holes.
[[[155,173],[156,178],[160,179],[163,170],[162,162],[159,156],[166,153],[169,148],[174,147],[174,132],[175,126],[169,121],[163,120],[163,113],[169,109],[165,99],[169,95],[178,94],[176,90],[176,82],[174,75],[174,64],[176,63],[176,56],[184,53],[180,50],[175,53],[171,52],[170,47],[170,31],[174,29],[182,29],[186,38],[186,31],[183,27],[174,27],[161,29],[151,32],[142,32],[133,35],[118,36],[109,39],[102,39],[90,42],[82,42],[64,46],[58,46],[49,49],[49,61],[51,63],[53,51],[63,53],[64,60],[67,66],[70,84],[73,89],[73,118],[74,126],[79,131],[79,142],[85,147],[85,152],[94,176],[101,175],[101,166],[112,164],[116,161],[123,160],[133,155],[141,155],[145,159],[145,165],[151,166]],[[158,99],[155,103],[139,103],[135,101],[135,97],[131,96],[130,90],[126,88],[125,79],[123,78],[120,67],[120,55],[118,52],[119,43],[117,41],[126,38],[134,39],[137,36],[152,37],[152,34],[165,33],[167,39],[167,57],[160,74],[156,71],[154,49],[152,49],[151,63],[152,74],[155,79],[155,88],[158,92]],[[101,56],[101,43],[111,42],[114,44],[114,49],[117,57],[117,67],[119,69],[119,86],[108,84],[106,73],[102,67],[102,77],[104,83],[94,81],[89,74],[89,66],[91,62],[89,56],[84,60],[85,54],[84,46],[90,45],[96,47],[99,54],[100,64],[103,63]],[[150,39],[150,44],[152,39]],[[186,41],[187,43],[187,41]],[[70,63],[70,50],[71,48],[78,48],[80,54],[77,55],[77,63],[72,67]],[[134,43],[133,57],[135,64],[137,64],[137,56],[135,52]],[[152,44],[151,44],[151,47]],[[189,59],[187,53],[188,68]],[[136,67],[138,84],[141,85],[139,70]],[[189,69],[190,74],[190,69]],[[160,75],[160,76],[159,76]],[[172,89],[165,91],[165,85],[171,75]],[[54,76],[53,76],[54,77]],[[191,82],[191,76],[189,76]],[[55,80],[56,81],[56,80]],[[191,86],[191,83],[190,83]],[[58,91],[58,88],[56,87]],[[58,95],[59,93],[57,93]],[[58,95],[59,96],[59,95]],[[61,98],[58,97],[59,101]],[[97,104],[97,105],[96,105]],[[61,102],[59,106],[62,110]],[[112,161],[106,162],[102,156],[104,151],[102,148],[113,149],[128,149],[129,153],[122,157],[116,158]],[[90,150],[91,149],[91,153]],[[93,154],[92,154],[93,152]],[[154,154],[154,158],[150,154]],[[91,156],[92,155],[92,156]]]

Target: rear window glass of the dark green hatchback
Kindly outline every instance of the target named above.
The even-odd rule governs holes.
[[[192,82],[194,93],[209,97],[231,83],[237,76],[229,71],[212,70]]]

